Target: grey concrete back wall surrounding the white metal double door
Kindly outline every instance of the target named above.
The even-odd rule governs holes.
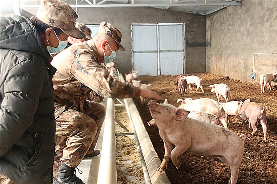
[[[131,23],[184,22],[186,27],[186,72],[205,72],[205,16],[180,11],[149,7],[78,8],[78,21],[84,24],[110,22],[123,34],[122,45],[126,51],[116,55],[118,68],[123,73],[131,70]]]

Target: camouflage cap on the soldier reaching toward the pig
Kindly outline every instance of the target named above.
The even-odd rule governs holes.
[[[122,38],[122,33],[120,33],[120,31],[110,23],[101,22],[97,33],[103,33],[110,36],[119,45],[118,50],[125,51],[125,48],[120,43]]]

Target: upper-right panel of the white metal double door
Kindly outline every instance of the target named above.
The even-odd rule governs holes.
[[[183,25],[159,25],[160,50],[183,51]]]

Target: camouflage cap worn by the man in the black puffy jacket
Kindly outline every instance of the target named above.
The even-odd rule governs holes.
[[[64,33],[77,39],[82,39],[85,34],[75,27],[77,13],[65,2],[60,0],[41,0],[37,17],[42,22],[60,28]]]

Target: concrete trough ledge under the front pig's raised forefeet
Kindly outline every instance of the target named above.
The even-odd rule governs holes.
[[[155,151],[150,137],[143,125],[143,121],[139,115],[137,107],[132,98],[126,99],[127,107],[130,111],[134,128],[139,138],[140,146],[147,165],[147,169],[151,178],[152,184],[170,184],[167,174],[165,172],[158,172],[157,169],[161,164],[161,160]]]

